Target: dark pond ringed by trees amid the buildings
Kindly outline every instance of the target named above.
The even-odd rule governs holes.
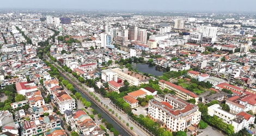
[[[132,65],[132,69],[137,69],[139,72],[150,73],[154,76],[163,76],[163,72],[166,72],[161,66],[154,66],[152,64],[135,64]]]

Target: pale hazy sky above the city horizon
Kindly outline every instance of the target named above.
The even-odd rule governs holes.
[[[0,9],[252,11],[256,0],[0,0]]]

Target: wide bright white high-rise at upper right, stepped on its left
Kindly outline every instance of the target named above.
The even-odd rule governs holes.
[[[217,37],[217,27],[200,26],[197,28],[197,32],[202,33],[203,44],[213,44]]]

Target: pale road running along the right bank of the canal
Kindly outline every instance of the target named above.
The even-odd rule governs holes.
[[[60,66],[58,63],[54,63],[54,65]],[[68,74],[71,77],[73,77],[71,73],[68,73]],[[80,83],[76,78],[74,78],[74,79],[75,79],[75,81],[77,83]],[[93,88],[89,88],[85,84],[82,84],[82,88],[86,88],[87,90],[89,90],[91,92],[94,92]],[[68,89],[65,89],[65,90],[68,90]],[[69,91],[69,93],[71,93],[71,92]],[[119,118],[119,116],[120,116],[121,117],[121,122],[123,122],[125,125],[126,125],[126,123],[129,123],[129,127],[133,127],[132,131],[135,132],[136,135],[139,135],[139,136],[147,135],[144,131],[142,131],[142,129],[140,129],[139,127],[137,127],[137,126],[132,124],[132,122],[129,120],[127,114],[121,114],[118,111],[118,109],[115,109],[114,106],[112,106],[112,104],[109,103],[109,99],[108,98],[102,98],[101,95],[97,94],[97,93],[94,93],[94,94],[99,98],[100,102],[105,103],[106,105],[109,105],[109,108],[111,108],[114,111],[114,113],[118,113],[118,117],[117,118]],[[78,101],[78,104],[79,104],[79,107],[81,107],[81,104],[82,104],[81,101]],[[82,104],[82,108],[84,108],[83,104]]]

